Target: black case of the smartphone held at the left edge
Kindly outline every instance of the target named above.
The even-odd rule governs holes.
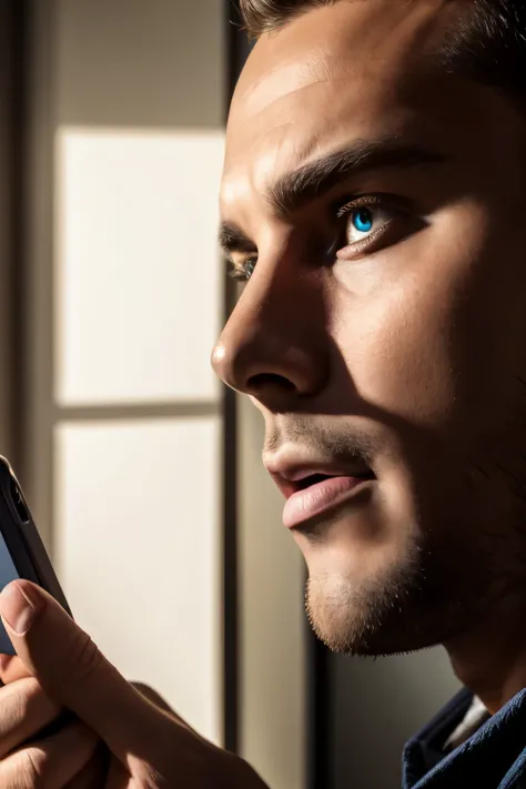
[[[22,520],[17,512],[12,497],[13,484],[23,503],[27,522]],[[49,591],[72,617],[20,484],[11,469],[9,461],[2,456],[0,456],[0,533],[20,578],[27,578]],[[6,649],[2,649],[2,651],[6,653]],[[14,650],[10,654],[14,655]]]

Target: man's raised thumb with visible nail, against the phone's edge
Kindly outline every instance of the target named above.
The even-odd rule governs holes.
[[[53,700],[75,712],[123,763],[130,755],[148,757],[145,746],[165,729],[165,717],[57,600],[29,580],[16,580],[0,595],[0,615],[18,656]]]

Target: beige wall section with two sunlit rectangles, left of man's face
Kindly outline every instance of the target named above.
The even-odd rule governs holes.
[[[225,52],[199,9],[34,8],[24,483],[81,626],[220,742]]]

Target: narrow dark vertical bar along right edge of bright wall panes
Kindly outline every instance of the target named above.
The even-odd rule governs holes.
[[[240,31],[236,3],[223,0],[226,44],[225,120],[227,109],[249,52],[246,37]],[[235,283],[224,277],[223,317],[235,304]],[[237,552],[237,408],[235,392],[223,387],[223,571],[224,571],[224,717],[223,737],[227,750],[240,749],[240,616]]]

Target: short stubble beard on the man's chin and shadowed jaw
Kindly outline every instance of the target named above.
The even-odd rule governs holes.
[[[478,546],[466,556],[458,545],[433,547],[421,537],[396,566],[360,584],[341,569],[311,575],[305,609],[332,651],[402,655],[444,644],[482,621],[492,599],[505,594],[500,580]]]

